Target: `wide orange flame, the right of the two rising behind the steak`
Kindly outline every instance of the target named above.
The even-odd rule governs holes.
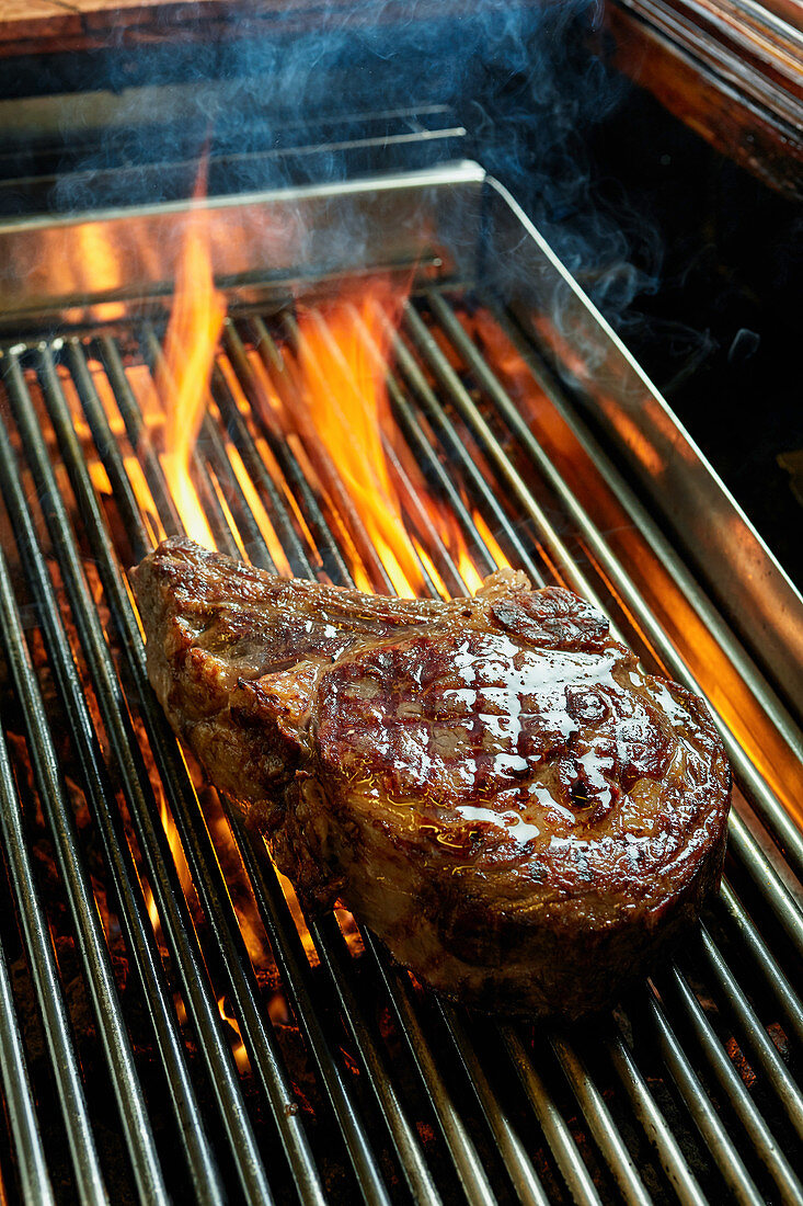
[[[388,361],[408,293],[409,282],[363,280],[287,320],[289,346],[262,346],[253,403],[282,439],[300,439],[305,472],[353,541],[361,589],[450,596],[481,576],[393,417]]]

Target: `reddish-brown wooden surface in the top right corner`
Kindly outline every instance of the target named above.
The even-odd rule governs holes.
[[[620,70],[723,154],[803,198],[797,0],[608,0],[605,24]]]

